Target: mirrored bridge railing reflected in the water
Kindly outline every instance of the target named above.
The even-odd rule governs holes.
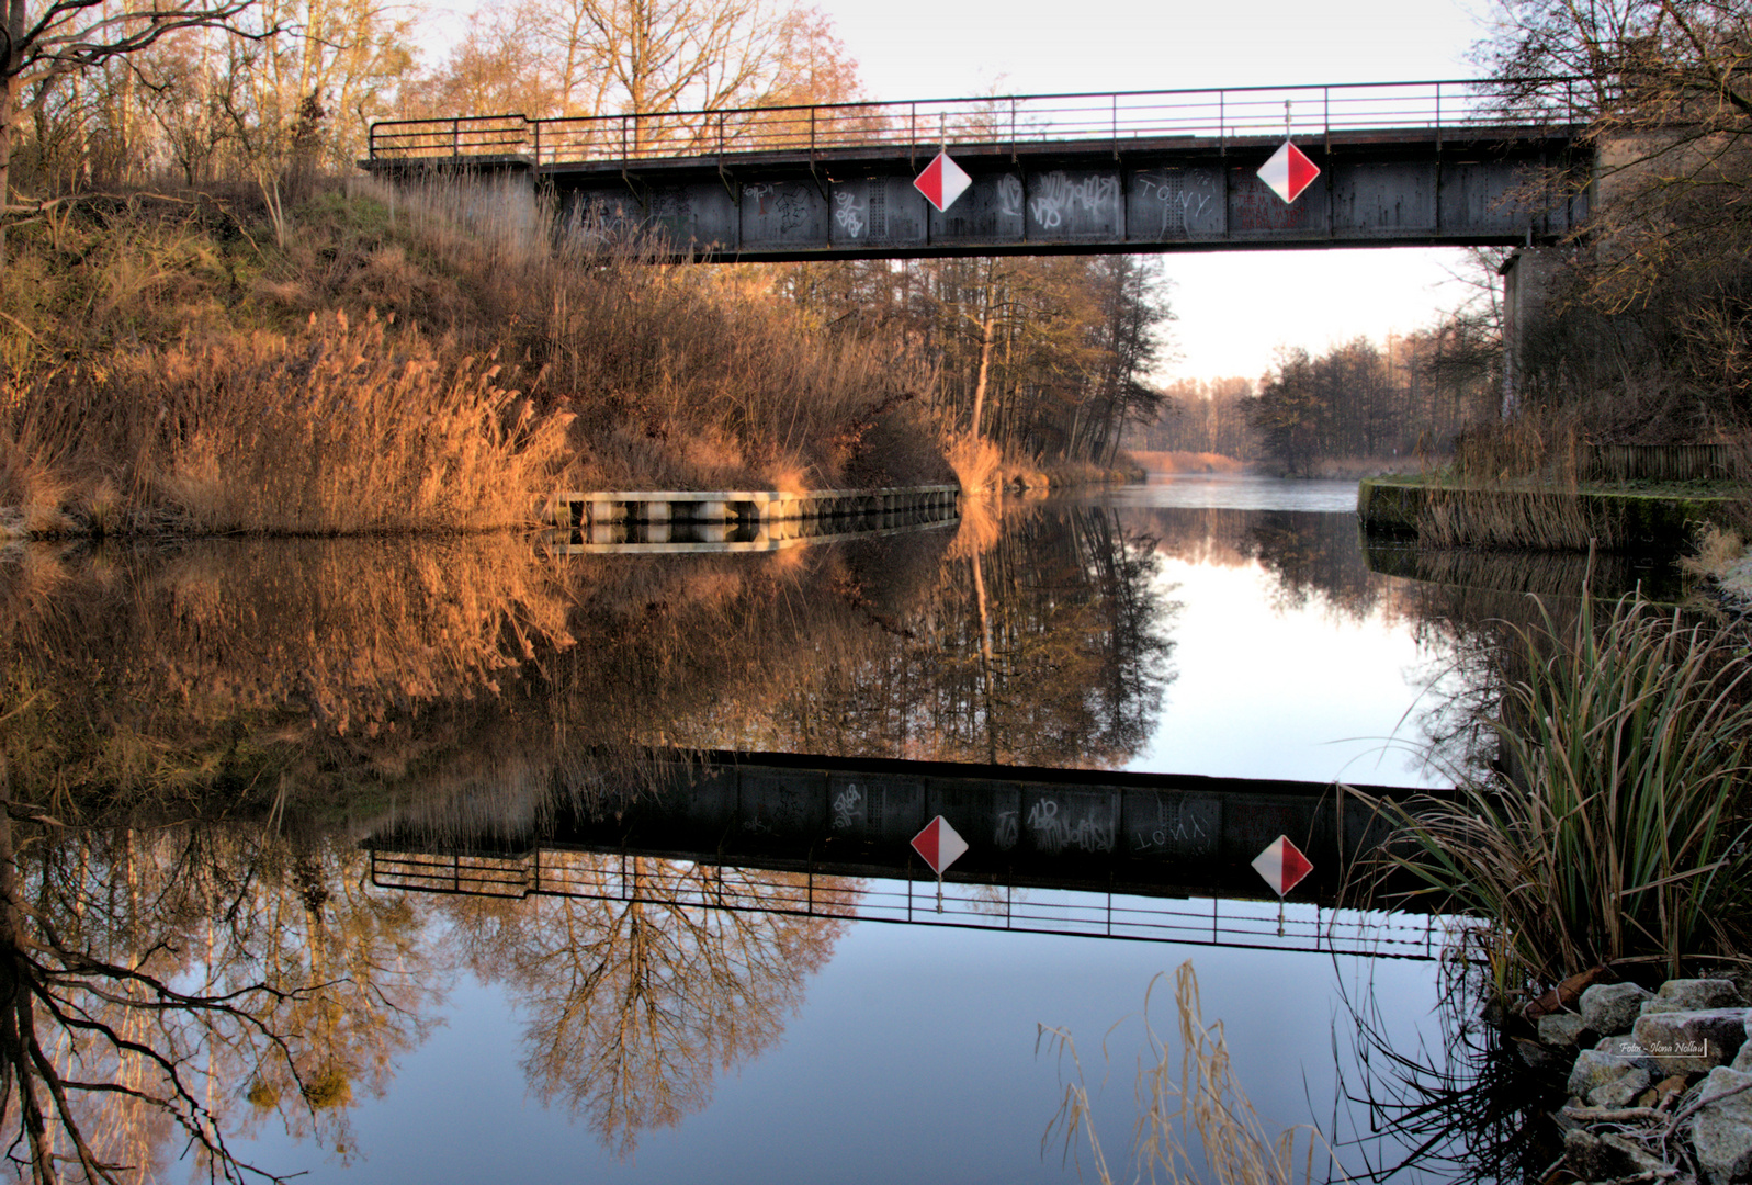
[[[1167,898],[1118,889],[851,876],[794,869],[536,848],[524,855],[371,850],[380,889],[484,898],[582,898],[668,908],[785,913],[1200,947],[1293,950],[1374,959],[1440,959],[1456,919],[1314,903]]]

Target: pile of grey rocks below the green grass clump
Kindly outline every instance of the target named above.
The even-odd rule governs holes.
[[[1538,1038],[1580,1047],[1559,1113],[1579,1178],[1752,1185],[1752,1008],[1731,980],[1594,983]]]

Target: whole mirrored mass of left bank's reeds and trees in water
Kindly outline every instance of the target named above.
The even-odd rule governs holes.
[[[699,563],[515,538],[0,554],[18,1171],[144,1181],[193,1150],[245,1180],[231,1141],[265,1124],[366,1155],[356,1106],[464,969],[524,1010],[536,1092],[613,1152],[704,1106],[843,922],[385,892],[354,840],[459,810],[515,834],[652,743],[1127,761],[1172,678],[1153,542],[1099,508],[976,528]],[[785,878],[741,892],[781,905]]]

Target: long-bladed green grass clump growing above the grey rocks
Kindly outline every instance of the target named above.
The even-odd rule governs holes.
[[[1508,631],[1498,761],[1458,799],[1396,815],[1386,862],[1410,892],[1487,924],[1498,983],[1615,961],[1677,975],[1743,955],[1752,922],[1745,784],[1752,666],[1736,643],[1640,596],[1570,629]]]

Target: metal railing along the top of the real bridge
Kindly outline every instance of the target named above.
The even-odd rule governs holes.
[[[613,165],[745,153],[906,149],[941,144],[1009,151],[1037,144],[1123,151],[1146,142],[1211,140],[1221,149],[1360,131],[1477,137],[1561,131],[1586,119],[1579,79],[1354,82],[1225,89],[1013,95],[894,103],[738,107],[529,119],[457,116],[371,124],[373,161],[517,160],[536,167]]]

